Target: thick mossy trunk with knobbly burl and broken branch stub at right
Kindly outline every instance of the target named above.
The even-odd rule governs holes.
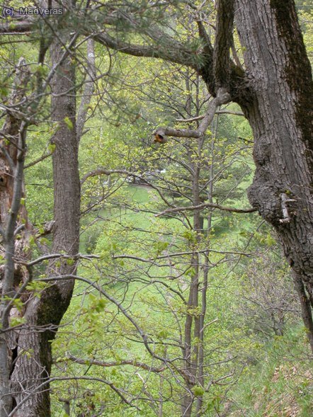
[[[313,83],[292,0],[236,0],[251,101],[239,102],[254,132],[249,200],[275,227],[301,289],[313,351]]]

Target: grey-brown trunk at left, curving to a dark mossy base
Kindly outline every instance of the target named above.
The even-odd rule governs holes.
[[[63,38],[65,43],[66,39]],[[52,120],[59,122],[53,137],[53,175],[55,183],[55,227],[52,253],[75,255],[79,251],[80,185],[78,145],[75,125],[74,66],[64,55],[62,43],[52,45],[52,66],[59,67],[52,80]],[[65,121],[64,121],[65,119]],[[69,122],[70,121],[70,122]],[[71,126],[72,125],[72,126]],[[50,263],[50,275],[73,273],[75,265]],[[18,359],[11,377],[17,404],[15,417],[49,417],[49,383],[52,365],[51,341],[72,297],[74,282],[58,281],[47,287],[40,298],[33,297],[26,306],[25,319],[29,326],[18,338]],[[28,353],[25,355],[25,353]],[[19,406],[20,404],[20,406]]]

